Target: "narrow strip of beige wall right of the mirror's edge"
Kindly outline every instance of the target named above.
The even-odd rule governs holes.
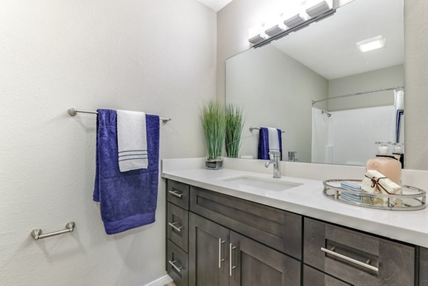
[[[428,1],[404,1],[406,166],[428,170]]]

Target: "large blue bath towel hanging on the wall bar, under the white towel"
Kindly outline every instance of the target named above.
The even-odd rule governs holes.
[[[146,115],[148,168],[121,173],[116,111],[98,109],[93,200],[108,235],[155,221],[158,198],[159,117]]]

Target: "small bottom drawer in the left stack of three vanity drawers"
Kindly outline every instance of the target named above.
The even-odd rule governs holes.
[[[188,286],[188,255],[173,242],[167,242],[167,272],[177,286]]]

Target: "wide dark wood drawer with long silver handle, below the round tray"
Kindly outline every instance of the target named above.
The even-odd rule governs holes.
[[[355,286],[413,286],[414,247],[305,218],[304,262]]]

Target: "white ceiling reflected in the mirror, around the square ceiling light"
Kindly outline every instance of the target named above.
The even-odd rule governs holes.
[[[402,0],[355,0],[336,14],[274,46],[328,80],[404,63]],[[356,43],[383,35],[384,48],[362,53]]]

